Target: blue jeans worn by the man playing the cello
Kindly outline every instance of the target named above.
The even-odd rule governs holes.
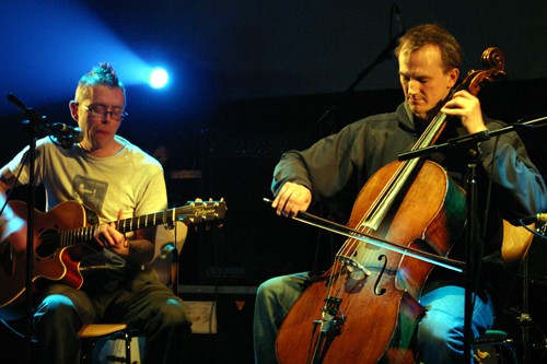
[[[256,364],[275,364],[276,338],[287,313],[310,281],[307,273],[272,278],[258,287],[254,316]],[[424,294],[420,303],[428,309],[418,326],[418,362],[424,364],[462,363],[464,349],[465,290],[443,286]],[[494,319],[490,300],[477,297],[473,314],[475,336],[491,328]]]

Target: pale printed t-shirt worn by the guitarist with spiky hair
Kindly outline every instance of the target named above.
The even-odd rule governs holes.
[[[94,211],[101,222],[158,212],[166,208],[165,179],[160,163],[126,139],[116,136],[123,148],[113,156],[94,157],[78,144],[62,149],[44,138],[36,143],[36,185],[46,189],[46,211],[62,201],[78,201]],[[10,163],[16,175],[26,149]],[[25,165],[19,181],[28,183]]]

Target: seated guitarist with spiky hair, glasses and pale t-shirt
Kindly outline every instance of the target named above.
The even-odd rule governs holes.
[[[155,230],[121,231],[113,223],[161,211],[167,206],[160,163],[117,136],[127,116],[125,105],[125,87],[115,70],[108,63],[101,63],[80,79],[75,97],[69,103],[83,140],[69,148],[61,148],[49,138],[36,143],[34,175],[35,181],[45,187],[47,211],[46,219],[42,219],[46,222],[35,230],[35,235],[39,235],[35,242],[39,248],[35,249],[35,256],[39,256],[36,262],[55,260],[61,267],[59,280],[37,290],[33,300],[37,303],[33,313],[34,338],[40,363],[79,363],[77,332],[85,324],[126,322],[129,328],[141,330],[147,337],[148,363],[178,363],[190,333],[184,302],[159,282],[153,272],[142,268],[153,257]],[[21,151],[0,171],[2,191],[28,184],[26,155],[27,150]],[[70,201],[81,208],[74,208]],[[72,222],[85,225],[86,209],[96,213],[98,225],[86,239],[90,254],[74,267],[77,270],[86,267],[94,273],[92,279],[84,278],[73,286],[63,279],[70,277],[69,258],[79,255],[80,249],[48,251],[48,237],[62,227],[79,227],[70,226]],[[8,207],[0,219],[0,232],[7,238],[1,244],[4,248],[11,244],[11,253],[20,255],[25,250],[21,238],[25,224],[15,214],[22,218],[24,214],[13,210]],[[47,214],[51,214],[53,223],[47,223]],[[126,231],[135,233],[125,234]],[[9,259],[3,262],[3,273],[11,272],[9,262]],[[96,267],[104,269],[95,270]],[[0,282],[0,289],[5,290],[7,282]]]

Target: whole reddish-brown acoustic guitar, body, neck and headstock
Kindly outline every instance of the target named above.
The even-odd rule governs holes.
[[[13,211],[26,219],[26,203],[10,201]],[[186,225],[224,218],[224,201],[189,201],[187,204],[160,212],[114,221],[121,233],[155,225],[172,225],[182,221]],[[83,284],[81,260],[97,253],[101,247],[93,239],[98,224],[92,212],[75,201],[66,201],[43,213],[35,210],[33,290],[40,279],[66,283],[74,289]],[[26,290],[26,254],[16,254],[10,244],[0,245],[0,318],[12,319],[14,307],[23,300]]]

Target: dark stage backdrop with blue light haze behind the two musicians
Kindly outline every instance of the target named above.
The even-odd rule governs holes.
[[[403,27],[439,22],[459,39],[466,52],[463,73],[482,68],[486,47],[503,50],[508,78],[479,95],[490,117],[513,122],[547,113],[547,2],[449,5],[420,0],[396,5]],[[71,124],[68,102],[75,81],[98,61],[112,61],[128,95],[129,118],[119,133],[151,154],[160,145],[167,149],[171,203],[225,198],[229,212],[221,228],[189,231],[183,285],[253,292],[270,277],[329,266],[333,238],[276,216],[263,198],[271,197],[272,169],[282,151],[304,149],[361,117],[392,111],[403,101],[393,58],[373,68],[354,92],[345,92],[400,31],[393,3],[5,1],[0,10],[7,14],[0,25],[1,93],[13,92],[49,120]],[[118,45],[110,44],[112,34]],[[119,45],[148,63],[168,64],[170,86],[152,91],[135,81],[132,62],[118,54]],[[21,121],[13,105],[0,103],[2,165],[27,143]],[[519,133],[546,176],[545,129]],[[201,178],[172,178],[181,171],[197,171]],[[312,211],[330,212],[324,206]],[[540,329],[547,327],[544,245],[534,242],[529,258],[536,357],[545,341]],[[521,283],[511,303],[516,310]],[[185,298],[219,303],[219,333],[195,338],[197,362],[252,361],[253,294],[186,293]],[[517,338],[514,314],[508,316],[504,325]],[[8,347],[18,342],[3,331],[2,337]]]

